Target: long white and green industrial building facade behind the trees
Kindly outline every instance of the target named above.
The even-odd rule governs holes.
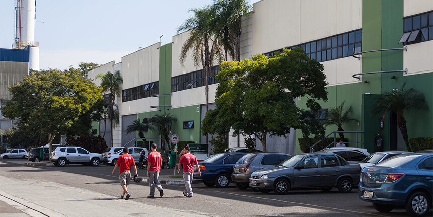
[[[100,73],[120,70],[123,78],[122,96],[116,98],[120,124],[113,132],[103,121],[94,124],[96,132],[105,132],[106,138],[113,133],[113,146],[123,146],[137,137],[126,133],[133,120],[161,112],[176,118],[172,133],[179,135],[180,140],[206,142],[200,133],[206,111],[203,71],[193,65],[191,56],[183,65],[179,61],[187,38],[188,32],[175,35],[172,43],[153,44],[122,57],[119,63],[109,62],[89,72],[89,77],[95,78]],[[353,108],[351,117],[359,122],[350,122],[343,128],[362,131],[359,141],[370,152],[374,151],[377,134],[382,135],[383,150],[405,149],[395,114],[383,114],[383,119],[382,115],[371,114],[378,95],[401,88],[404,83],[406,88],[422,92],[430,108],[405,114],[408,137],[433,137],[431,1],[263,0],[253,4],[253,11],[242,22],[241,59],[255,54],[272,56],[275,51],[292,47],[303,48],[310,58],[324,65],[329,83],[328,101],[321,102],[323,109],[318,118],[328,108],[345,101],[347,107]],[[399,49],[366,52],[392,48]],[[214,107],[218,86],[214,76],[220,69],[216,66],[209,77],[210,109]],[[95,82],[99,85],[98,79]],[[156,94],[159,96],[152,97]],[[300,97],[295,102],[306,108],[307,99]],[[335,130],[335,126],[328,126],[326,134]],[[157,137],[156,132],[147,132],[145,136]],[[300,153],[298,138],[301,137],[298,130],[287,137],[269,137],[267,150]],[[349,141],[356,139],[348,133],[346,137]],[[230,135],[228,138],[229,146],[236,147],[237,138]],[[243,146],[243,138],[240,143]],[[257,146],[261,147],[259,141]]]

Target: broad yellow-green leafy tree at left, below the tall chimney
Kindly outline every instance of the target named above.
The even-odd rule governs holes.
[[[13,97],[2,113],[17,118],[18,128],[48,136],[50,155],[54,138],[102,99],[101,88],[75,71],[31,71],[9,91]]]

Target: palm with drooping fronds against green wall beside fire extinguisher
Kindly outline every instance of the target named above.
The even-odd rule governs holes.
[[[425,102],[424,94],[410,88],[405,90],[404,86],[400,89],[395,89],[391,92],[385,92],[375,99],[373,107],[373,114],[381,114],[387,112],[395,112],[397,114],[397,125],[400,128],[403,140],[406,143],[407,151],[411,151],[409,146],[409,140],[407,138],[407,126],[404,113],[412,109],[428,109],[428,105]]]

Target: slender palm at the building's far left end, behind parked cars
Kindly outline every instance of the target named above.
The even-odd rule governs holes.
[[[108,96],[108,117],[111,123],[111,147],[113,147],[113,119],[114,119],[114,103],[116,96],[120,97],[120,84],[123,79],[120,76],[120,71],[114,71],[114,74],[107,71],[107,74],[99,74],[96,78],[101,79],[102,93],[109,93]]]

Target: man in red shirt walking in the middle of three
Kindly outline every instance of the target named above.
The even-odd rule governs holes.
[[[164,189],[162,188],[158,177],[160,175],[162,158],[161,154],[157,152],[157,145],[155,143],[151,144],[152,152],[148,155],[148,171],[147,176],[149,177],[149,196],[148,198],[155,198],[155,185],[160,192],[160,197],[164,195]]]

